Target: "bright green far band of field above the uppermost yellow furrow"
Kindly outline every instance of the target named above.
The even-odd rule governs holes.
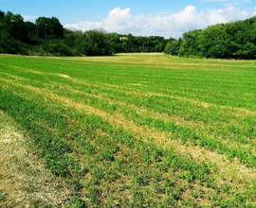
[[[142,92],[179,95],[230,107],[255,110],[254,63],[243,62],[240,65],[217,61],[210,65],[209,61],[197,62],[194,64],[192,61],[188,63],[179,61],[178,64],[174,64],[170,60],[169,64],[171,66],[174,64],[171,69],[166,69],[161,64],[158,67],[149,65],[141,67],[139,64],[132,64],[129,70],[127,70],[129,62],[113,64],[70,59],[44,61],[19,58],[9,59],[8,64],[24,67],[24,69],[21,68],[21,72],[26,69],[36,69],[34,71],[40,73],[72,75],[72,78],[116,84],[130,89],[139,89]],[[134,83],[142,84],[142,87],[132,85]]]

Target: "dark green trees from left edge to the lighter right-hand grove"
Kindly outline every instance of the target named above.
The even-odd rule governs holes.
[[[108,56],[121,52],[162,52],[169,40],[106,33],[104,30],[71,31],[55,18],[39,17],[35,24],[20,14],[0,10],[0,53]]]

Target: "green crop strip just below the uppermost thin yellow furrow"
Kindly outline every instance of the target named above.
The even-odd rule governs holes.
[[[254,130],[254,117],[253,115],[247,114],[247,116],[236,115],[234,111],[229,109],[220,109],[215,106],[210,106],[205,108],[203,106],[198,106],[197,103],[192,103],[190,100],[180,100],[179,98],[169,97],[164,95],[129,95],[127,92],[120,92],[117,89],[108,90],[105,89],[105,86],[97,87],[95,85],[84,85],[79,83],[74,83],[70,80],[64,80],[64,78],[59,78],[57,76],[51,77],[36,77],[30,78],[32,80],[36,79],[37,82],[35,86],[48,88],[52,90],[54,88],[55,92],[58,94],[64,94],[68,88],[59,88],[62,84],[70,85],[70,87],[80,90],[81,94],[85,93],[87,95],[78,95],[74,92],[66,92],[68,95],[73,95],[75,99],[83,99],[84,97],[89,97],[92,100],[92,105],[97,103],[97,98],[94,98],[90,95],[99,95],[102,98],[107,98],[108,100],[125,102],[127,105],[135,105],[137,108],[147,108],[149,110],[155,111],[157,113],[165,113],[170,116],[179,116],[182,117],[185,121],[192,121],[197,123],[204,123],[208,127],[216,126],[219,130],[211,130],[214,133],[215,137],[220,135],[224,136],[227,134],[227,139],[230,137],[229,134],[235,134],[235,136],[242,139],[246,142],[247,139],[253,140],[255,138]],[[38,80],[44,79],[44,82]],[[58,82],[52,82],[58,80]],[[27,83],[31,84],[31,80],[27,80]],[[54,83],[54,85],[52,85]],[[53,87],[54,86],[54,87]],[[64,91],[64,92],[63,92]],[[141,93],[142,94],[142,93]],[[101,101],[102,102],[102,101]],[[112,105],[110,109],[119,108],[119,104]],[[111,111],[111,110],[110,110]],[[227,113],[227,111],[229,113]],[[241,125],[242,124],[242,125]],[[228,127],[226,127],[228,126]],[[227,133],[229,132],[229,134]],[[244,137],[244,138],[243,138]]]

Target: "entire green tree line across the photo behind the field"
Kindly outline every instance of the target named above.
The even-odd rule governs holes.
[[[25,22],[0,10],[0,53],[40,56],[111,56],[116,53],[165,52],[211,59],[256,59],[256,17],[185,32],[182,38],[133,36],[102,29],[73,31],[56,17]]]

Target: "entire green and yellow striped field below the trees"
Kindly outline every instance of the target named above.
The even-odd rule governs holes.
[[[256,207],[256,61],[0,55],[0,207]]]

